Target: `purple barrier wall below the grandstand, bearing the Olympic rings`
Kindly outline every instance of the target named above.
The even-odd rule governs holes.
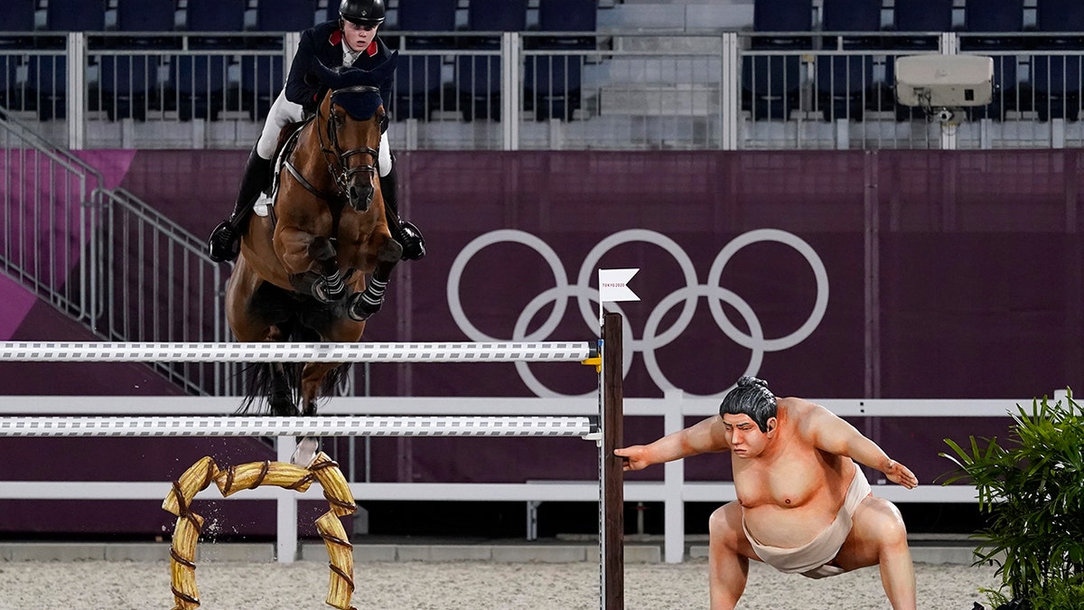
[[[121,186],[206,234],[232,205],[245,154],[140,151]],[[586,340],[595,269],[638,267],[642,301],[621,304],[629,397],[718,395],[743,373],[810,398],[1082,386],[1079,151],[401,152],[399,162],[401,209],[429,256],[400,267],[370,341]],[[7,393],[51,374],[20,369],[11,380],[9,367]],[[595,384],[579,365],[370,371],[377,395]],[[949,470],[937,457],[944,435],[1004,436],[1008,420],[942,423],[855,421],[928,483]],[[659,427],[630,422],[627,440]],[[553,443],[376,440],[372,468],[377,481],[594,475],[593,447]],[[697,458],[688,470],[705,480],[728,468]]]

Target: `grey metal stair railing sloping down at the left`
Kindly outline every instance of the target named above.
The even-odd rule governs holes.
[[[111,341],[225,341],[224,277],[202,240],[0,111],[0,271]],[[229,365],[150,365],[220,394]]]

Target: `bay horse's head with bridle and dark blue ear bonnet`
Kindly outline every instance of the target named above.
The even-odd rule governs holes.
[[[380,89],[373,85],[395,69],[397,55],[372,71],[330,71],[323,82],[330,87],[321,104],[321,140],[324,154],[334,155],[332,174],[339,192],[357,212],[367,212],[377,183],[377,151],[388,127]]]

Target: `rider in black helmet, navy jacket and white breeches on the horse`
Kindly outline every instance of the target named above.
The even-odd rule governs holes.
[[[327,87],[317,76],[319,72],[310,66],[319,61],[327,67],[372,69],[389,59],[387,45],[376,36],[376,29],[384,23],[384,0],[341,0],[338,21],[322,23],[301,33],[301,41],[297,46],[294,63],[289,66],[286,86],[271,104],[263,132],[248,155],[233,213],[228,220],[215,228],[208,240],[212,260],[223,263],[236,258],[238,242],[248,226],[253,205],[260,192],[271,183],[270,160],[274,155],[279,132],[286,125],[315,114],[327,91]],[[385,104],[390,100],[393,78],[392,73],[380,85],[380,97]],[[404,259],[422,258],[425,256],[425,238],[417,227],[399,218],[396,163],[388,144],[387,131],[380,136],[377,156],[380,192],[384,194],[384,209],[391,237],[403,246]]]

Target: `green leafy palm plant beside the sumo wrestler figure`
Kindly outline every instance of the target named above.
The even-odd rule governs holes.
[[[976,486],[990,516],[976,534],[976,564],[994,562],[1002,590],[1033,610],[1084,610],[1084,409],[1072,398],[1017,406],[1004,444],[970,437],[940,454],[958,468],[944,484]],[[1002,592],[986,592],[996,606]]]

